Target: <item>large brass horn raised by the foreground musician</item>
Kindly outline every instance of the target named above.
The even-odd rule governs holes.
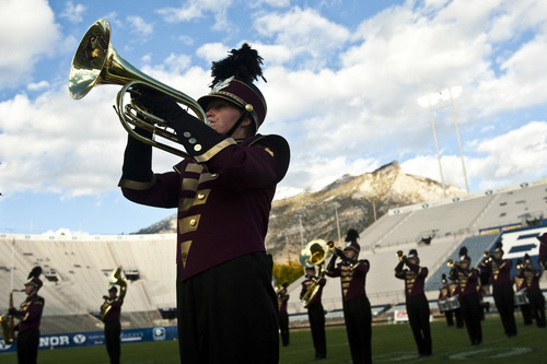
[[[124,106],[126,92],[130,92],[131,89],[136,92],[135,86],[140,84],[165,93],[177,103],[187,106],[197,118],[209,125],[203,109],[195,99],[147,75],[119,56],[110,43],[110,24],[106,19],[100,19],[93,23],[80,42],[72,59],[68,83],[70,96],[74,99],[82,98],[91,89],[100,84],[123,85],[116,97],[115,109],[127,132],[140,142],[185,158],[189,157],[185,151],[155,140],[156,137],[161,137],[178,143],[176,133],[167,129],[170,126],[165,120],[147,113],[133,103]],[[152,137],[150,139],[142,137],[130,125],[151,131]]]

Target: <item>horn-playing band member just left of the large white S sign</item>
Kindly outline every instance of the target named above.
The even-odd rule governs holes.
[[[503,259],[501,242],[496,243],[493,254],[482,259],[480,268],[490,272],[492,282],[492,296],[496,307],[500,313],[501,324],[508,338],[516,336],[514,320],[514,291],[511,280],[512,262]]]

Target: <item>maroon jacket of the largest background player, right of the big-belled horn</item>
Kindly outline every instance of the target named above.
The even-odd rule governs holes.
[[[350,301],[365,295],[364,284],[369,272],[369,260],[359,260],[351,265],[347,261],[339,262],[333,271],[327,271],[328,277],[340,277],[342,298]]]

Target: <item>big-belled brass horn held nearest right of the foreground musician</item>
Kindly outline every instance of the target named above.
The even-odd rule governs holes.
[[[319,281],[325,277],[326,271],[323,270],[323,265],[325,260],[330,256],[330,251],[334,248],[333,245],[327,245],[323,239],[312,240],[306,244],[306,246],[300,253],[300,263],[305,268],[318,267],[318,274],[316,278],[312,278],[312,283],[307,286],[307,291],[302,296],[301,301],[304,304],[304,308],[307,308],[313,302],[317,293],[319,292],[321,285]]]

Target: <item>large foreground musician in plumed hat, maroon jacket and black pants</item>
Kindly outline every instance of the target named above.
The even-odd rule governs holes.
[[[279,361],[272,259],[264,240],[290,151],[282,137],[256,134],[267,109],[253,84],[261,78],[261,60],[244,44],[213,62],[212,90],[198,99],[209,126],[165,94],[143,89],[133,95],[175,130],[189,154],[174,172],[154,174],[151,148],[129,138],[119,183],[133,202],[178,209],[178,344],[185,363]]]

